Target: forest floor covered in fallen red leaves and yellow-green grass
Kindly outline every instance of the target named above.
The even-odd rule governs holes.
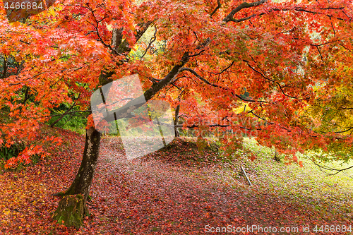
[[[85,138],[60,132],[66,145],[50,159],[21,171],[1,171],[0,235],[213,234],[221,227],[244,228],[233,234],[352,234],[342,232],[353,229],[352,172],[325,176],[307,161],[304,167],[287,166],[251,141],[254,162],[247,157],[220,161],[213,150],[198,152],[187,138],[127,161],[121,145],[104,137],[90,216],[79,230],[66,228],[51,219],[59,203],[52,193],[70,186]]]

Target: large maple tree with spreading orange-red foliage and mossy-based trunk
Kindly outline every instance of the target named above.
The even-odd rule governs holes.
[[[94,90],[134,73],[146,102],[170,102],[185,128],[232,130],[222,138],[229,147],[239,146],[239,133],[256,131],[258,143],[294,161],[313,149],[347,159],[352,12],[347,0],[56,1],[8,23],[1,6],[0,108],[8,119],[0,144],[27,145],[6,167],[45,157],[48,142],[60,143],[39,131],[54,107],[68,102],[86,112]],[[148,30],[154,35],[141,40]],[[133,56],[137,49],[141,56]],[[337,102],[340,110],[330,109]],[[345,121],[322,121],[326,109]],[[55,218],[69,225],[79,227],[86,212],[100,135],[89,116],[80,169],[59,193]]]

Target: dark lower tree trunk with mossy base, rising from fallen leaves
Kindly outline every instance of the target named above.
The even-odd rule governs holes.
[[[79,228],[83,216],[88,213],[85,203],[90,193],[90,186],[97,166],[100,136],[101,133],[94,127],[86,131],[85,150],[76,178],[66,192],[56,194],[63,195],[64,198],[59,202],[59,207],[54,212],[53,219],[58,222],[64,221],[66,227]]]

